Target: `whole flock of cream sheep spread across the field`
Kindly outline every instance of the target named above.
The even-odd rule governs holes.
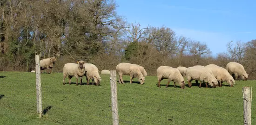
[[[51,57],[47,59],[40,60],[40,69],[52,69],[57,58]],[[52,71],[50,71],[52,72]],[[131,64],[131,63],[119,63],[116,66],[116,72],[119,75],[119,83],[124,83],[122,76],[130,76],[130,84],[132,84],[133,78],[138,78],[141,84],[145,82],[145,76],[147,72],[144,67]],[[236,62],[230,62],[226,65],[226,69],[217,66],[215,64],[209,64],[207,66],[196,65],[193,67],[182,67],[172,68],[169,66],[160,66],[157,70],[157,86],[160,88],[160,82],[163,79],[168,79],[168,84],[170,81],[178,83],[182,89],[185,87],[185,81],[183,77],[187,78],[188,86],[191,88],[191,81],[195,80],[196,84],[200,81],[199,88],[201,88],[202,82],[205,83],[206,87],[209,86],[216,88],[216,86],[222,87],[222,82],[226,81],[229,83],[230,87],[233,87],[235,80],[247,80],[248,74],[243,68],[243,65]],[[101,74],[110,74],[109,70],[102,70]],[[71,78],[76,78],[76,85],[78,85],[78,78],[80,77],[80,85],[82,84],[82,77],[86,76],[87,85],[89,85],[90,79],[95,82],[98,86],[100,85],[101,76],[99,75],[99,69],[92,63],[85,63],[84,61],[79,61],[77,63],[66,63],[63,67],[63,85],[65,84],[65,78],[68,76],[69,84],[71,84]],[[93,83],[94,84],[94,83]]]

